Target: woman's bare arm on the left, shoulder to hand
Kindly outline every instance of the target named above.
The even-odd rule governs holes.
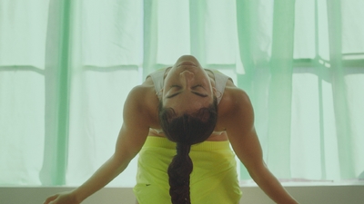
[[[123,112],[124,122],[116,141],[116,150],[110,159],[106,160],[80,187],[71,192],[49,197],[45,200],[45,204],[81,203],[126,169],[147,139],[149,119],[146,116],[146,106],[143,104],[146,101],[143,99],[144,96],[141,87],[134,88],[127,96]]]

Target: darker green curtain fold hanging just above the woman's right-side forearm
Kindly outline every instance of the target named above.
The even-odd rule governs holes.
[[[291,135],[295,2],[275,1],[273,9],[268,83],[267,164],[278,178],[291,178],[291,154],[288,152]]]

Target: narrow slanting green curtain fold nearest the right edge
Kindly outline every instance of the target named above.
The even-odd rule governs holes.
[[[340,178],[350,179],[355,177],[352,144],[353,134],[350,130],[351,118],[349,117],[348,87],[345,82],[345,71],[342,66],[342,11],[341,3],[328,1],[329,23],[329,57],[332,72],[332,90],[338,137]]]

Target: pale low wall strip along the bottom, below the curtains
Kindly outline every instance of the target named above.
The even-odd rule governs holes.
[[[0,188],[0,204],[42,204],[45,198],[70,188]],[[286,187],[300,204],[363,204],[364,185]],[[245,204],[273,203],[258,187],[242,187]],[[83,204],[134,204],[131,188],[105,188],[86,199]],[[217,203],[222,204],[222,203]]]

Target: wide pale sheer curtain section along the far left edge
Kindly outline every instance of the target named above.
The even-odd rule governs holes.
[[[1,185],[41,184],[48,5],[0,2]]]

